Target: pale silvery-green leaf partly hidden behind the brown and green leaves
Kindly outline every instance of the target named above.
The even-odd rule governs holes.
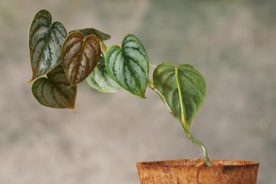
[[[89,86],[98,91],[107,93],[116,93],[119,90],[119,85],[108,75],[106,71],[106,62],[103,57],[100,57],[97,66],[86,78]]]

